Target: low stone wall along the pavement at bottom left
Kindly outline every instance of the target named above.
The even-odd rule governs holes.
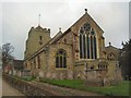
[[[3,74],[3,78],[25,96],[57,96],[56,94],[51,93],[51,90],[37,87],[33,84],[29,84],[29,82],[22,81],[9,74]]]

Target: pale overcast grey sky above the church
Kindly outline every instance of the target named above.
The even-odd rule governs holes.
[[[0,3],[0,45],[10,42],[13,56],[24,59],[25,41],[32,26],[40,25],[51,29],[53,37],[59,27],[62,32],[75,23],[87,9],[87,13],[102,27],[105,45],[110,41],[121,48],[129,39],[129,2],[2,2]]]

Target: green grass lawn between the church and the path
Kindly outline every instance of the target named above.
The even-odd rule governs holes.
[[[40,79],[40,82],[109,96],[129,96],[129,85],[131,85],[129,81],[108,87],[87,87],[82,79]]]

